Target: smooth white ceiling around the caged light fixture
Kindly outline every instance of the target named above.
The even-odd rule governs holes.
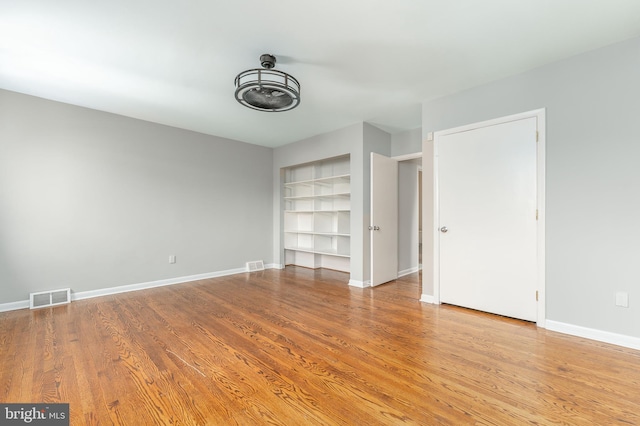
[[[639,35],[638,0],[0,0],[0,88],[275,147]],[[236,102],[263,53],[298,108]]]

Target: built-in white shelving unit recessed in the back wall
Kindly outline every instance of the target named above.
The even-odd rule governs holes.
[[[349,156],[284,170],[285,264],[350,272]]]

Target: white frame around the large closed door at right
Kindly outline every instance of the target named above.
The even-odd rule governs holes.
[[[438,147],[440,139],[443,136],[453,133],[466,132],[482,127],[495,126],[510,121],[521,120],[525,118],[537,118],[537,146],[536,146],[536,173],[537,173],[537,288],[538,288],[538,308],[537,321],[538,327],[545,327],[546,319],[546,280],[545,280],[545,109],[537,109],[533,111],[523,112],[520,114],[500,117],[493,120],[482,121],[465,126],[455,127],[453,129],[434,132],[433,136],[433,221],[434,227],[437,228],[440,223],[440,205],[439,205],[439,179],[438,179]],[[423,224],[424,226],[424,224]],[[425,259],[423,259],[424,261]],[[440,232],[434,229],[433,234],[433,303],[440,304]]]

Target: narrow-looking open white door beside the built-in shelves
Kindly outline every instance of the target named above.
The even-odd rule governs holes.
[[[398,277],[398,162],[371,153],[371,285]]]

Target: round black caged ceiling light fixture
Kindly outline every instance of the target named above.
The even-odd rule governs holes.
[[[260,56],[263,69],[256,68],[236,76],[236,100],[258,111],[289,111],[300,104],[300,83],[287,73],[274,70],[276,57]]]

